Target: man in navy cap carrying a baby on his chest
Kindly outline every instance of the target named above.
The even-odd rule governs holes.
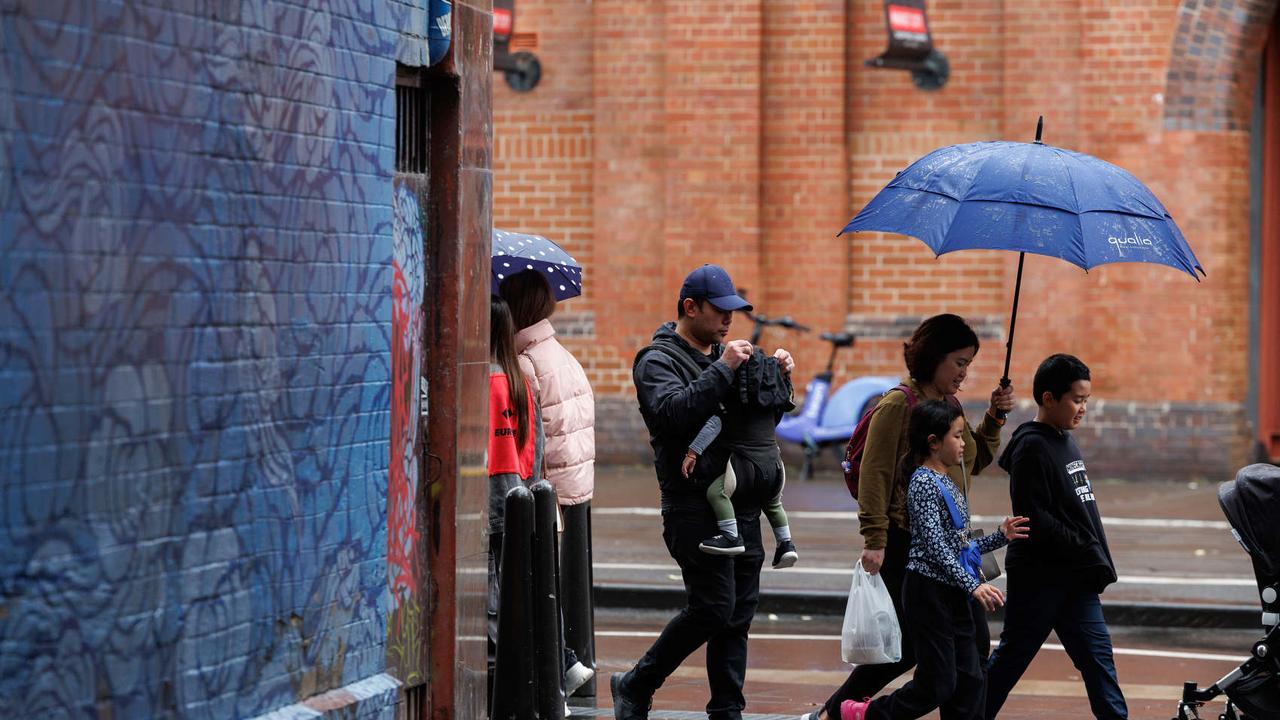
[[[680,469],[698,430],[722,411],[735,370],[751,356],[750,342],[724,342],[736,310],[751,310],[751,305],[737,295],[728,273],[717,265],[695,269],[680,288],[676,322],[659,327],[632,365],[662,491],[662,537],[680,565],[689,600],[636,666],[611,679],[617,720],[646,719],[654,691],[703,643],[712,694],[708,717],[739,720],[746,706],[746,635],[759,602],[764,562],[760,501],[780,489],[781,477],[765,477],[749,457],[739,466],[742,438],[735,437],[732,419],[726,419],[724,430],[687,479]],[[777,350],[774,357],[786,373],[791,372],[794,363],[786,350]],[[748,455],[750,450],[748,445]],[[739,479],[732,500],[746,551],[708,555],[698,544],[718,530],[705,489],[723,474],[731,457]]]

